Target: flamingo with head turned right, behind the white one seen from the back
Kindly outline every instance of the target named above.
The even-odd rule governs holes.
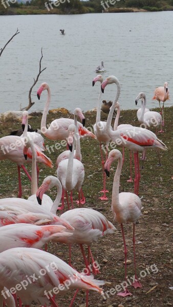
[[[82,114],[82,111],[79,107],[75,108],[74,110],[74,124],[76,126],[76,132],[75,132],[75,138],[76,138],[76,150],[74,150],[74,158],[79,160],[80,162],[82,161],[82,156],[81,156],[81,150],[80,150],[80,137],[78,133],[78,128],[77,128],[77,116],[82,119],[83,124],[85,123],[85,118]],[[60,153],[56,160],[56,168],[58,168],[59,162],[65,159],[69,159],[70,155],[70,150],[65,150]],[[82,196],[82,199],[80,200],[80,204],[84,205],[85,204],[85,197],[83,194],[82,189],[80,190],[80,194]],[[79,204],[79,201],[77,201],[77,204]]]

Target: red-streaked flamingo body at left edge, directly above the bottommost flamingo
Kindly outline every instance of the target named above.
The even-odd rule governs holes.
[[[72,235],[62,225],[32,225],[26,223],[10,224],[0,228],[0,253],[14,247],[32,247],[41,249],[46,243]],[[58,241],[58,239],[60,241]]]

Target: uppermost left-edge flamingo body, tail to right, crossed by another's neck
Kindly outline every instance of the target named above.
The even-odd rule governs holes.
[[[36,160],[39,163],[44,163],[49,167],[53,167],[52,161],[42,152],[42,150],[35,144],[36,148]],[[31,176],[26,170],[24,164],[32,163],[32,152],[28,151],[27,161],[24,158],[24,138],[18,136],[6,136],[0,139],[0,160],[10,160],[17,164],[18,169],[18,186],[19,192],[18,197],[21,198],[21,177],[20,177],[20,167],[25,171],[29,180],[31,180]]]

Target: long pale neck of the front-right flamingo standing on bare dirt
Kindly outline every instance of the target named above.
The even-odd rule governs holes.
[[[114,176],[113,189],[112,189],[112,209],[116,212],[121,208],[119,202],[119,185],[120,185],[120,175],[122,169],[122,157],[118,159],[118,166]]]

